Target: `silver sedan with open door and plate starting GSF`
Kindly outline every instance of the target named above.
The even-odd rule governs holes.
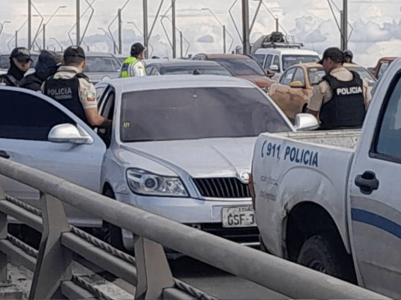
[[[220,75],[107,79],[96,90],[110,131],[95,132],[47,96],[0,87],[0,155],[238,242],[257,240],[247,185],[256,136],[294,130],[266,93]],[[39,198],[15,182],[6,192]],[[102,226],[66,209],[76,225]],[[103,225],[109,242],[132,246],[132,233]]]

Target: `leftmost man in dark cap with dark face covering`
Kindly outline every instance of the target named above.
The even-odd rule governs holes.
[[[0,83],[8,86],[19,86],[24,74],[31,67],[31,53],[25,47],[14,48],[10,55],[10,68],[7,74],[0,75]]]

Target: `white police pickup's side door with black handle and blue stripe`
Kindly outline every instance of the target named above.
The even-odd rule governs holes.
[[[382,107],[369,107],[375,112],[364,124],[349,176],[350,237],[360,283],[400,298],[401,74],[380,94]]]

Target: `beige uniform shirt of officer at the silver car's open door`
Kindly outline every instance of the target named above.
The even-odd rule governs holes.
[[[78,73],[78,68],[75,66],[62,65],[54,74],[54,79],[71,79]],[[79,98],[84,109],[97,108],[96,89],[93,83],[90,83],[85,78],[78,78]],[[42,84],[42,92],[45,91],[45,83]]]

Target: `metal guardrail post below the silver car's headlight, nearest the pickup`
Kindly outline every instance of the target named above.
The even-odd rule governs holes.
[[[135,242],[135,259],[138,274],[135,299],[161,299],[163,288],[174,286],[163,246],[139,237]]]

